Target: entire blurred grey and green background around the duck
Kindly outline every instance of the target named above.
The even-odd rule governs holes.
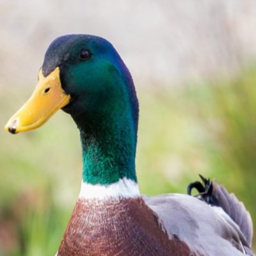
[[[141,192],[186,193],[200,173],[234,192],[256,223],[255,4],[114,2],[0,2],[1,256],[54,255],[79,193],[70,116],[60,111],[15,136],[3,131],[31,95],[47,45],[66,33],[108,38],[134,76]]]

